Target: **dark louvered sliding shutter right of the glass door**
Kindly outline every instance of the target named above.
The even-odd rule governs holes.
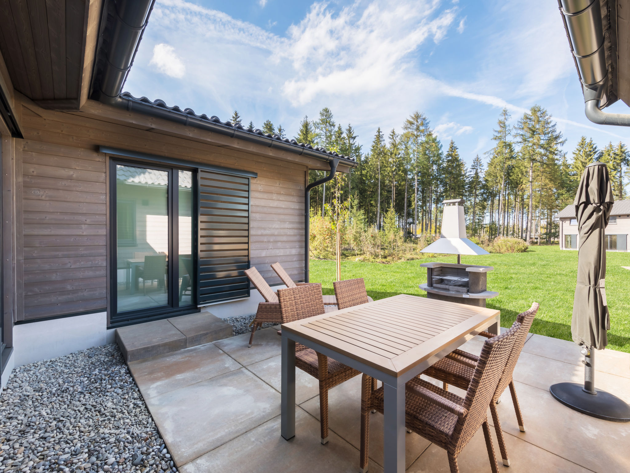
[[[249,178],[199,170],[198,303],[249,296]]]

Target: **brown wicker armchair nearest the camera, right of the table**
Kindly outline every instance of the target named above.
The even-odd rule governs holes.
[[[474,369],[473,380],[462,398],[420,378],[406,384],[407,429],[444,448],[449,456],[451,473],[458,473],[457,455],[483,427],[488,457],[493,473],[498,472],[495,450],[488,425],[488,405],[501,379],[520,324],[500,336],[487,340]],[[375,409],[383,412],[383,388],[374,388],[374,380],[363,375],[361,392],[360,471],[367,472],[369,415]]]

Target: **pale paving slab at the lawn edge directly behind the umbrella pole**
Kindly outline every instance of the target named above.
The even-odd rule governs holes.
[[[523,351],[583,366],[584,356],[580,354],[580,347],[568,340],[534,334],[525,343]],[[597,350],[595,351],[595,370],[630,378],[630,353],[609,349]]]

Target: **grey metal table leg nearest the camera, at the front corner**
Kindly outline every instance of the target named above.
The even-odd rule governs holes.
[[[404,384],[383,383],[384,473],[404,473]]]

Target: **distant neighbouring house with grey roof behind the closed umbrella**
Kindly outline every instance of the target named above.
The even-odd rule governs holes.
[[[558,214],[560,220],[560,248],[578,249],[578,221],[575,206],[568,205]],[[605,245],[608,251],[627,251],[627,236],[630,234],[630,199],[612,205],[610,221],[606,227]]]

